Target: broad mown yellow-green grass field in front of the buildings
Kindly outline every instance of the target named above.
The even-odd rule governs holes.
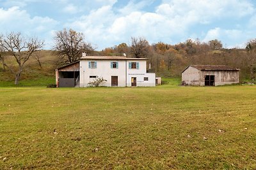
[[[0,169],[256,169],[256,86],[0,88]]]

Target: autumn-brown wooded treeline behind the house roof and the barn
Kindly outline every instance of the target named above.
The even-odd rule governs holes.
[[[146,57],[148,64],[159,76],[180,76],[191,64],[227,65],[241,69],[241,80],[255,81],[256,40],[249,41],[246,48],[223,48],[218,39],[207,43],[198,39],[177,45],[163,42],[149,45],[147,39],[131,38],[131,45],[122,43],[105,48],[97,55],[123,55],[127,57]]]

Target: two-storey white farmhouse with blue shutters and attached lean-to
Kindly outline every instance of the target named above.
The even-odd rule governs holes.
[[[147,73],[147,59],[111,56],[86,56],[79,62],[56,69],[57,87],[88,87],[97,78],[106,87],[151,87],[156,74]]]

